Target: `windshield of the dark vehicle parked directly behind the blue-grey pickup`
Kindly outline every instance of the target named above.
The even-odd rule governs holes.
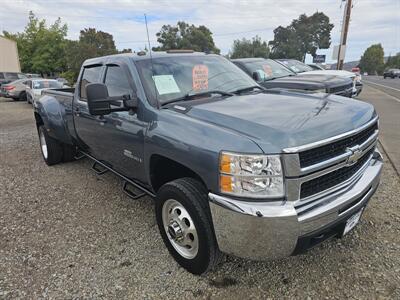
[[[245,63],[251,74],[257,72],[262,80],[271,80],[280,77],[295,75],[294,72],[272,59],[258,60]]]

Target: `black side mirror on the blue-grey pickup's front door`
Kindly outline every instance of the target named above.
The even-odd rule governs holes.
[[[94,116],[103,116],[111,113],[107,86],[103,83],[89,83],[86,85],[86,96],[89,113]]]

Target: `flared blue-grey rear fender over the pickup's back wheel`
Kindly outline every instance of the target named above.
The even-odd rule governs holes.
[[[50,95],[44,95],[35,103],[35,113],[43,121],[49,136],[65,144],[72,144],[64,106]]]

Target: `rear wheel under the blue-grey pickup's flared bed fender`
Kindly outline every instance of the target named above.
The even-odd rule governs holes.
[[[61,143],[50,137],[43,125],[39,126],[38,133],[40,150],[46,164],[52,166],[60,163],[63,158],[63,148]]]

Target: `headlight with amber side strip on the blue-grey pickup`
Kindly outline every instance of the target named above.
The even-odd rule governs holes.
[[[249,198],[284,196],[279,155],[222,152],[219,171],[221,193]]]

